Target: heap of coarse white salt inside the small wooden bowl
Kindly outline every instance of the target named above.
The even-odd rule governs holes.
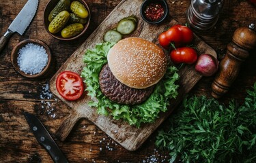
[[[48,55],[44,47],[27,43],[19,50],[17,62],[21,71],[34,75],[40,73],[47,65]]]

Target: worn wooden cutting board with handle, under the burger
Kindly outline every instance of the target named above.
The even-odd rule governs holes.
[[[134,14],[139,18],[139,23],[137,30],[134,31],[128,37],[141,37],[158,44],[158,35],[162,31],[167,30],[170,26],[178,24],[177,21],[173,20],[171,16],[159,24],[152,25],[144,22],[139,14],[140,6],[142,0],[124,0],[115,9],[106,19],[98,26],[98,29],[92,33],[88,39],[68,58],[68,60],[62,65],[62,67],[57,71],[50,81],[50,89],[53,94],[58,96],[61,101],[66,103],[70,108],[70,115],[66,117],[66,120],[63,121],[61,126],[56,132],[56,137],[59,137],[61,141],[64,141],[74,124],[81,118],[87,118],[91,122],[94,122],[101,130],[106,132],[112,139],[117,141],[124,148],[134,151],[138,149],[141,144],[150,137],[150,134],[156,130],[156,128],[169,116],[169,114],[175,109],[175,107],[182,101],[184,94],[188,93],[195,84],[201,79],[201,75],[197,73],[193,66],[184,66],[179,71],[180,79],[178,81],[180,88],[178,90],[179,94],[177,98],[171,99],[170,109],[166,113],[160,113],[160,117],[156,122],[152,124],[143,124],[141,128],[136,128],[134,126],[129,126],[126,122],[122,120],[116,121],[113,120],[110,116],[98,115],[96,113],[96,108],[91,108],[87,105],[88,101],[91,101],[89,96],[86,94],[82,98],[79,98],[78,101],[66,101],[63,99],[56,90],[55,81],[57,75],[61,71],[74,71],[76,73],[81,73],[83,67],[83,56],[87,49],[92,49],[96,46],[96,43],[102,42],[102,37],[106,31],[113,29],[119,20]],[[170,1],[167,3],[171,4]],[[207,53],[216,56],[216,52],[210,48],[205,42],[201,41],[199,37],[195,36],[195,46],[199,50],[199,54]],[[167,52],[167,51],[165,51]],[[96,99],[93,99],[96,100]]]

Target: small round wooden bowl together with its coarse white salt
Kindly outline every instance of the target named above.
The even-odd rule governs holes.
[[[12,50],[12,65],[21,75],[29,78],[40,77],[51,64],[48,46],[38,39],[26,39]]]

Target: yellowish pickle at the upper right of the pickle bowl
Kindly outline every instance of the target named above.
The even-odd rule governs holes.
[[[72,1],[70,10],[76,14],[76,16],[79,16],[79,18],[87,18],[89,14],[85,6],[79,1]]]

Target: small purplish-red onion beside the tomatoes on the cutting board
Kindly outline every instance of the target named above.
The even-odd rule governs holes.
[[[201,54],[197,59],[195,70],[203,76],[212,76],[218,70],[218,60],[210,54]]]

